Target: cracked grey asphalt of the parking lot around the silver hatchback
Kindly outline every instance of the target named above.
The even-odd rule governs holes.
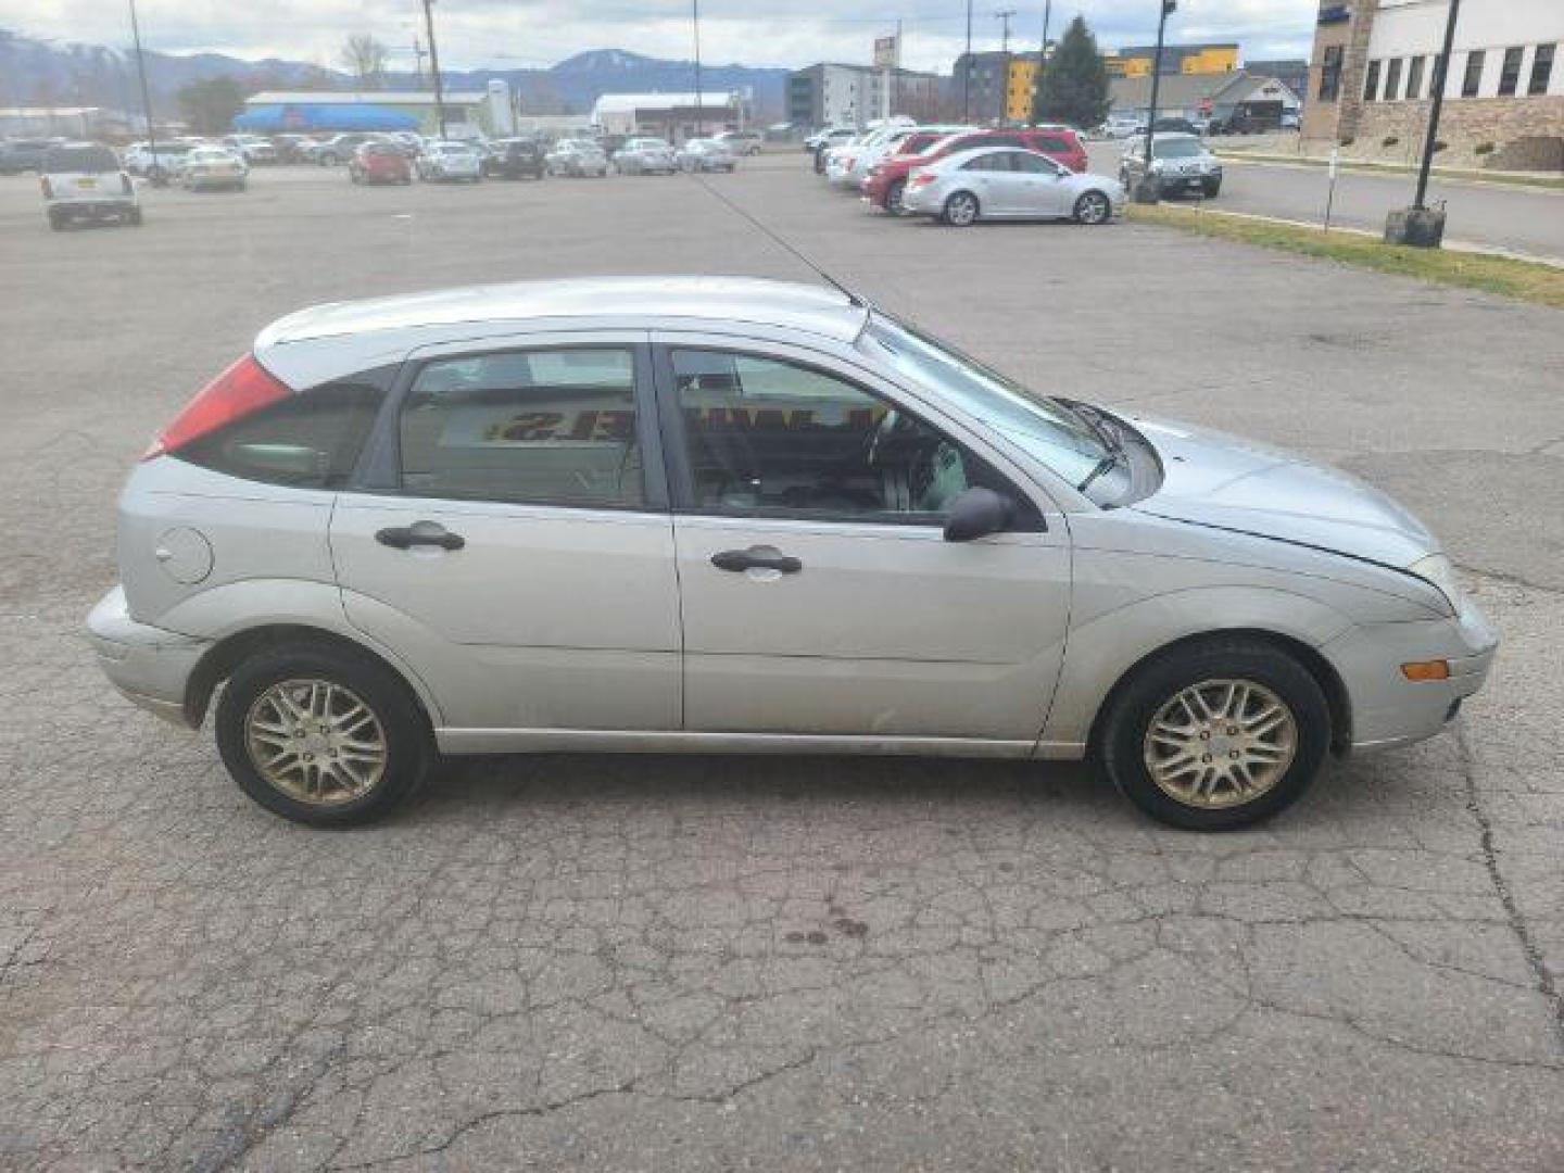
[[[569,755],[332,834],[103,680],[117,488],[267,321],[809,280],[749,217],[1042,391],[1392,491],[1503,630],[1489,687],[1226,837],[1079,768]],[[0,1167],[1564,1167],[1558,311],[1134,224],[890,221],[796,153],[256,170],[64,233],[0,180]]]

